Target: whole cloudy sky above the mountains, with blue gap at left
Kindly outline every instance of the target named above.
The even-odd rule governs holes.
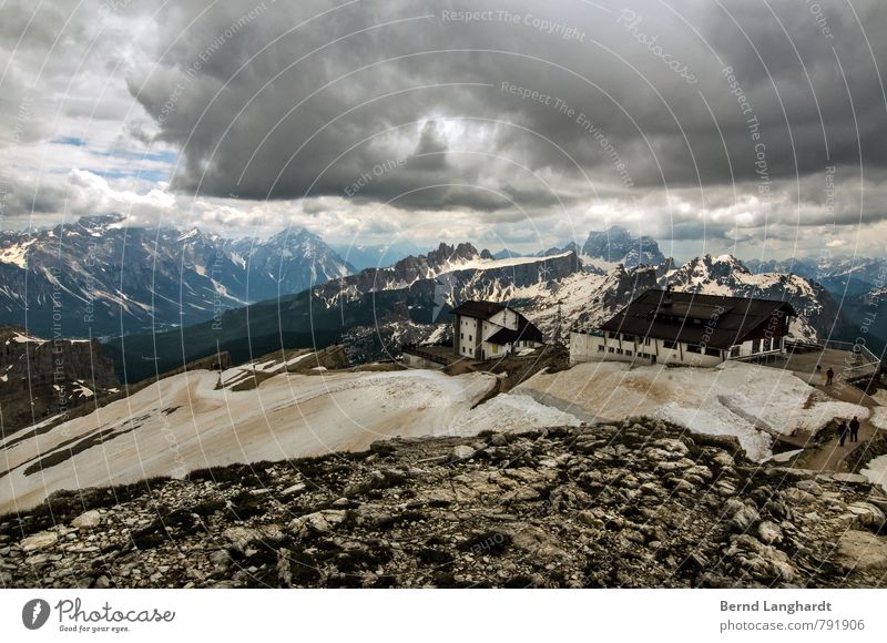
[[[2,2],[2,0],[0,0]],[[881,255],[883,0],[6,1],[0,226]]]

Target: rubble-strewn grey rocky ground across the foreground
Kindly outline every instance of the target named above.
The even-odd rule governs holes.
[[[376,442],[62,492],[0,586],[883,586],[887,498],[662,422]]]

